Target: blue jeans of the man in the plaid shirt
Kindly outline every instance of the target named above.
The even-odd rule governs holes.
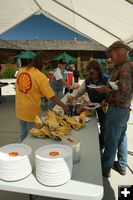
[[[109,172],[114,166],[117,152],[118,162],[121,168],[127,165],[127,122],[130,108],[109,106],[105,123],[105,150],[102,156],[102,170]]]

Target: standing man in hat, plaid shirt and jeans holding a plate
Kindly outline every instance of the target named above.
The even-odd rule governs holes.
[[[107,48],[106,54],[114,63],[110,81],[116,84],[116,87],[101,86],[97,89],[107,94],[106,101],[109,104],[105,125],[105,149],[102,156],[102,172],[107,178],[110,177],[113,167],[121,175],[126,174],[126,129],[133,94],[133,63],[128,61],[130,50],[131,48],[122,41],[114,42]]]

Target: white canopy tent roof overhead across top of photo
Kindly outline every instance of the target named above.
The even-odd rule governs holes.
[[[116,40],[123,40],[133,48],[132,2],[132,0],[0,0],[0,34],[41,12],[106,47]]]

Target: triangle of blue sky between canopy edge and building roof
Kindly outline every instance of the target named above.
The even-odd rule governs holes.
[[[88,40],[68,28],[48,19],[44,15],[34,15],[0,35],[4,40]]]

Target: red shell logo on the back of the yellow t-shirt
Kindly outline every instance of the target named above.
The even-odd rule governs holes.
[[[19,86],[19,91],[27,94],[27,92],[32,87],[32,80],[30,75],[26,72],[22,72],[21,74],[19,74],[17,84]]]

